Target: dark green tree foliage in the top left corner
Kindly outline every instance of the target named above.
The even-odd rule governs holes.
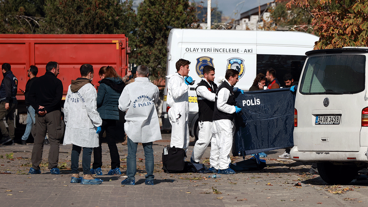
[[[38,33],[43,21],[45,0],[1,0],[0,32],[5,34]]]

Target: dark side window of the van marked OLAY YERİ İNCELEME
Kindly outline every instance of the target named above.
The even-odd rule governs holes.
[[[276,70],[276,78],[282,87],[285,87],[284,75],[291,73],[294,81],[299,81],[303,69],[305,55],[261,55],[257,54],[257,73],[266,74],[267,69]]]

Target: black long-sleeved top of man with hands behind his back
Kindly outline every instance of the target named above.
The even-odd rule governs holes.
[[[28,101],[36,113],[39,112],[39,106],[44,106],[47,113],[61,110],[62,98],[63,83],[50,71],[33,81],[29,89]]]

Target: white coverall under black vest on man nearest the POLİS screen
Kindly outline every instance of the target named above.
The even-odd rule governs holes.
[[[227,84],[229,82],[225,80]],[[230,85],[230,84],[229,84]],[[235,113],[235,106],[227,104],[230,91],[221,88],[217,93],[217,109],[225,113]],[[215,169],[229,168],[230,151],[233,145],[234,123],[229,119],[213,120],[211,141],[211,167]],[[213,148],[213,149],[212,149]]]

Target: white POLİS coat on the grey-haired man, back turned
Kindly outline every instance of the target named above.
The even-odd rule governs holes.
[[[119,109],[126,111],[124,130],[135,143],[162,139],[155,103],[159,89],[146,77],[137,77],[125,86],[119,98]]]

